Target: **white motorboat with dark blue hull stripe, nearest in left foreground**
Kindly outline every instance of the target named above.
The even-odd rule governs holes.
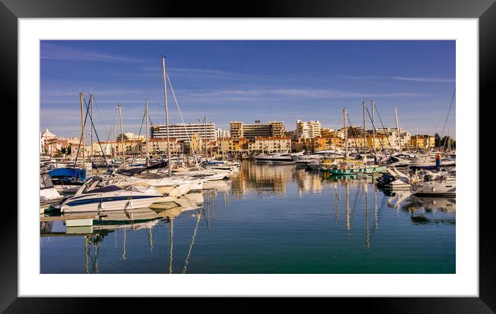
[[[174,198],[172,196],[167,196]],[[67,198],[60,205],[60,212],[103,212],[112,210],[132,210],[148,207],[163,199],[154,187],[143,185],[106,184],[103,178],[94,176],[74,196]]]

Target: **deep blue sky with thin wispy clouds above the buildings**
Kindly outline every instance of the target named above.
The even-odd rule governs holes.
[[[362,124],[374,100],[386,127],[442,133],[455,87],[454,41],[42,41],[41,121],[57,136],[80,136],[79,95],[95,95],[100,140],[118,124],[139,133],[145,99],[164,123],[160,56],[186,123],[319,120],[342,127],[342,109]],[[168,91],[170,122],[181,122]],[[455,137],[455,103],[444,133]],[[367,121],[369,126],[371,123]],[[119,132],[118,132],[119,133]],[[143,131],[141,131],[143,133]]]

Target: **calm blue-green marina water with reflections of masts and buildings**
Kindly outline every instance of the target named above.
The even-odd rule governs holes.
[[[41,272],[455,273],[454,198],[251,162],[207,187],[159,213],[42,225]]]

